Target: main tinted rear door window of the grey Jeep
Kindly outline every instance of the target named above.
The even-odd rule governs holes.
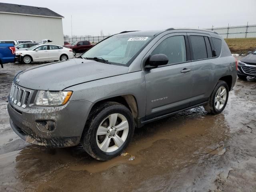
[[[190,43],[192,47],[193,60],[205,59],[208,57],[204,36],[192,35],[190,36]]]

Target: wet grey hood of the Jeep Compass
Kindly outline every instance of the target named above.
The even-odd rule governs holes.
[[[127,72],[128,67],[125,66],[76,58],[28,68],[17,74],[14,82],[34,90],[63,90],[76,84]]]

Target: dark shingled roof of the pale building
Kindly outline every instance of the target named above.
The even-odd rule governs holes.
[[[64,18],[60,14],[44,7],[33,7],[19,4],[0,3],[0,12],[43,17]]]

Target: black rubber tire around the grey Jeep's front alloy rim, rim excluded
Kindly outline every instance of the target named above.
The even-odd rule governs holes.
[[[98,146],[98,136],[97,130],[101,125],[102,121],[106,119],[111,114],[121,114],[123,115],[128,122],[128,134],[127,138],[117,150],[113,152],[104,152]],[[122,131],[121,131],[122,132]],[[118,134],[118,132],[116,133]],[[86,126],[84,128],[84,132],[81,137],[81,143],[84,147],[84,150],[93,158],[101,161],[110,160],[119,154],[121,154],[124,149],[128,146],[130,141],[132,140],[134,134],[134,119],[130,110],[117,102],[105,102],[93,108],[92,112],[89,114],[88,121],[86,122]],[[106,137],[104,138],[106,139]],[[114,140],[111,138],[111,141]],[[110,146],[108,144],[108,146]]]

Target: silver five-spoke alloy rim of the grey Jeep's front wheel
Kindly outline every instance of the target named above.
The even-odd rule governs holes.
[[[119,113],[105,118],[98,127],[96,142],[103,152],[114,152],[126,141],[129,124],[125,116]]]

